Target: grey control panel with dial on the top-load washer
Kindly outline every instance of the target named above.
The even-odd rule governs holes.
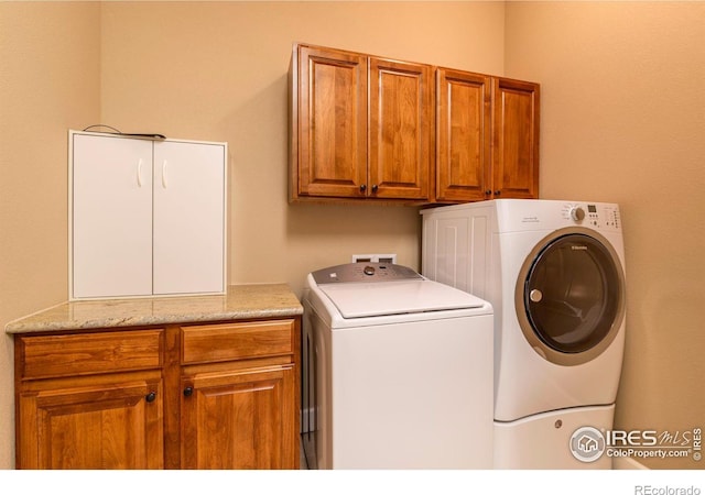
[[[349,282],[422,280],[423,277],[408,266],[392,263],[347,263],[312,272],[316,284]]]

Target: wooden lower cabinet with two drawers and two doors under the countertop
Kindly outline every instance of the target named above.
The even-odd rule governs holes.
[[[17,468],[299,469],[300,324],[17,336]]]

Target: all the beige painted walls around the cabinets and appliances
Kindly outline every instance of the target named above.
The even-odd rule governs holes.
[[[299,292],[307,272],[354,252],[417,266],[414,209],[288,205],[286,69],[303,41],[542,82],[542,196],[622,205],[617,425],[703,426],[704,7],[0,2],[0,326],[66,298],[66,130],[98,122],[229,143],[234,283]],[[7,337],[0,384],[10,468]]]

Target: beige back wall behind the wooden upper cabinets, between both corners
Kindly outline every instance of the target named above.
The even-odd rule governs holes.
[[[107,3],[102,120],[126,131],[227,141],[230,280],[286,280],[398,253],[419,266],[412,208],[286,201],[293,42],[503,70],[503,4],[379,2]]]

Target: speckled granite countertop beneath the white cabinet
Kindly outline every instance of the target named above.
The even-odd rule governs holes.
[[[286,284],[232,285],[221,296],[101,299],[64,302],[9,322],[6,333],[141,327],[303,314]]]

